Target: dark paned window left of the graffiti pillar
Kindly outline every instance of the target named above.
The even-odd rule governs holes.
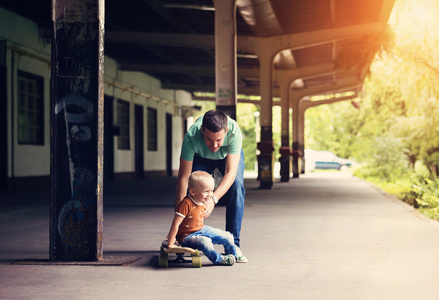
[[[18,72],[18,143],[44,145],[44,79]]]

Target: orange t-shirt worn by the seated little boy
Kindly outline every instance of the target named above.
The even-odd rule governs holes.
[[[177,206],[175,214],[183,217],[178,228],[177,241],[181,241],[191,233],[200,230],[204,226],[204,211],[206,205],[193,200],[190,196],[186,196]]]

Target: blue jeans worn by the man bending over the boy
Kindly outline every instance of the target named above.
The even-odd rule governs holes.
[[[226,159],[212,160],[195,155],[192,164],[192,172],[206,171],[213,174],[218,168],[224,176],[226,169]],[[230,186],[227,193],[221,198],[226,202],[226,231],[233,234],[236,246],[240,246],[239,235],[241,233],[242,218],[244,217],[244,151],[241,149],[238,171],[236,172],[235,182]]]

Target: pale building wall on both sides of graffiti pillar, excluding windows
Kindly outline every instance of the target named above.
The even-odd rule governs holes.
[[[12,12],[0,8],[0,39],[6,40],[8,69],[8,176],[29,177],[50,175],[50,44],[39,38],[37,24]],[[17,72],[22,70],[44,78],[44,145],[19,145],[17,143]],[[105,57],[104,92],[113,97],[114,122],[117,121],[117,100],[130,103],[130,150],[117,149],[117,137],[114,137],[114,171],[134,172],[134,105],[144,107],[144,169],[157,171],[166,169],[166,113],[173,115],[173,160],[172,169],[179,167],[179,156],[182,143],[182,119],[178,106],[191,106],[191,94],[186,91],[162,90],[158,79],[141,72],[118,70],[114,59]],[[112,84],[116,82],[129,87],[124,90]],[[140,92],[140,95],[139,95]],[[142,94],[143,93],[143,94]],[[158,102],[151,97],[159,97],[168,103]],[[14,101],[12,101],[12,95]],[[158,150],[147,151],[147,107],[157,109],[158,118]],[[14,113],[12,114],[12,109]],[[11,127],[12,120],[14,127]],[[117,124],[115,124],[117,125]],[[12,131],[13,130],[13,131]],[[12,134],[13,133],[13,134]],[[12,160],[13,159],[13,160]],[[13,169],[12,169],[13,168]]]

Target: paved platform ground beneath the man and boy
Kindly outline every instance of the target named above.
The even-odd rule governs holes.
[[[0,193],[0,298],[437,299],[439,227],[409,206],[343,172],[246,186],[249,263],[201,269],[157,267],[175,179],[105,187],[104,256],[141,258],[125,267],[13,264],[48,256],[49,193]]]

